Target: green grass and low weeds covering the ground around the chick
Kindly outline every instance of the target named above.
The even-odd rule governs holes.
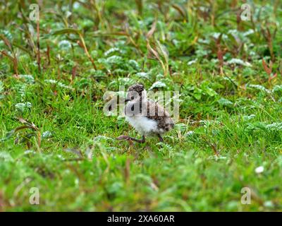
[[[16,2],[0,11],[0,211],[282,210],[280,1],[250,1],[252,21],[240,1],[44,1],[41,71]],[[176,128],[117,141],[140,135],[104,114],[104,93],[156,81],[180,91]]]

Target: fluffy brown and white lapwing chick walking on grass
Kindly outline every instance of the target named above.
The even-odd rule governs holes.
[[[118,140],[145,143],[145,136],[157,136],[164,142],[162,134],[173,129],[174,122],[168,112],[156,102],[147,99],[142,84],[131,85],[125,98],[125,120],[142,136],[141,140],[130,136],[119,136]]]

